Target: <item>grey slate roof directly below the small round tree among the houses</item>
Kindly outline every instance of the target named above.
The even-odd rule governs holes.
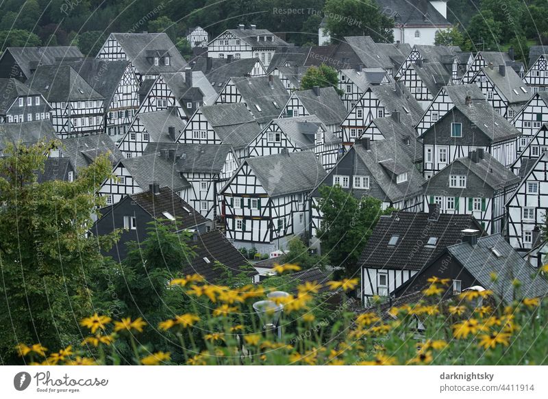
[[[316,96],[313,89],[299,90],[292,95],[297,96],[310,115],[316,115],[325,126],[340,125],[348,111],[336,90],[329,86],[320,88]]]

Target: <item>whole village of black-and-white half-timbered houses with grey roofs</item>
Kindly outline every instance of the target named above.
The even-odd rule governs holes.
[[[76,181],[108,155],[112,177],[95,193],[105,206],[88,234],[122,229],[102,250],[119,263],[157,220],[196,246],[184,273],[216,282],[219,262],[266,281],[295,263],[297,237],[323,259],[299,281],[327,281],[340,265],[325,250],[334,230],[322,206],[342,190],[383,213],[351,266],[358,308],[408,298],[434,277],[449,279],[447,297],[489,289],[511,301],[516,276],[523,295],[544,297],[548,50],[522,62],[512,48],[436,45],[451,27],[447,3],[425,3],[424,14],[397,10],[393,43],[332,42],[320,28],[318,45],[296,46],[236,21],[215,37],[189,31],[189,60],[166,33],[145,31],[109,34],[95,57],[8,47],[1,146],[58,140],[39,183]],[[325,66],[336,84],[302,87]]]

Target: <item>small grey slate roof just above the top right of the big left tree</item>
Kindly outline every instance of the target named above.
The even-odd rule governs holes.
[[[110,136],[105,133],[93,136],[66,138],[61,140],[61,153],[69,157],[76,168],[84,168],[91,164],[99,155],[108,153],[114,166],[123,155]]]

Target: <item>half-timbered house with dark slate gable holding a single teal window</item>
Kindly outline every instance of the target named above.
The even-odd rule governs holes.
[[[438,112],[438,120],[420,136],[424,144],[424,176],[429,179],[475,149],[483,149],[504,166],[510,166],[516,160],[519,131],[491,107],[477,86],[447,86],[438,98],[447,92],[456,102],[433,103],[425,114],[425,118],[432,118]],[[443,107],[449,106],[450,110],[444,113]]]

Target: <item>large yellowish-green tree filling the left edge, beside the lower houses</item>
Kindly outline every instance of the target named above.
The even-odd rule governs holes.
[[[16,363],[16,344],[79,345],[78,321],[94,311],[93,284],[103,266],[97,244],[116,236],[88,237],[95,196],[110,177],[108,157],[80,170],[75,181],[37,183],[47,153],[60,143],[8,144],[0,159],[0,353]]]

